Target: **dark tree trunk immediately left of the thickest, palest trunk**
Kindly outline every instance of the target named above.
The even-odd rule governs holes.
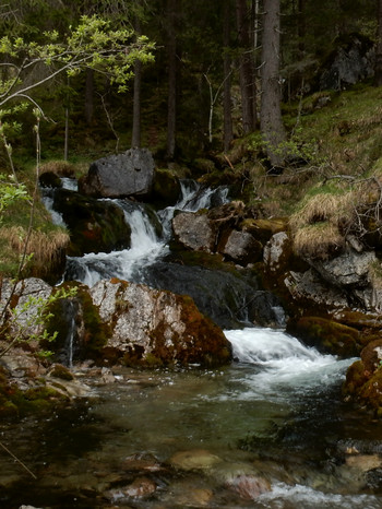
[[[254,129],[253,84],[254,73],[251,59],[249,15],[247,0],[236,0],[238,40],[240,45],[239,80],[241,91],[242,129],[248,134]]]

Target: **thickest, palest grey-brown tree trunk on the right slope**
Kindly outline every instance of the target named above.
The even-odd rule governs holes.
[[[284,166],[283,143],[286,140],[280,108],[279,31],[279,0],[264,0],[260,125],[271,171]]]

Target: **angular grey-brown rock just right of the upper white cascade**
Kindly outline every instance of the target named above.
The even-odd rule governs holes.
[[[172,230],[178,242],[187,249],[213,252],[217,226],[204,213],[181,212],[172,220]]]

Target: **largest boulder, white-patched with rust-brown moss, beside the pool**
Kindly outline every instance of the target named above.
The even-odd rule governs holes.
[[[104,353],[133,366],[219,366],[231,359],[223,331],[191,297],[120,280],[100,281],[91,291],[110,329]]]

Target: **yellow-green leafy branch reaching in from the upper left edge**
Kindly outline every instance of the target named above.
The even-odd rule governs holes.
[[[8,72],[0,79],[0,107],[13,99],[34,102],[29,95],[32,90],[61,73],[74,76],[85,68],[106,74],[119,92],[124,92],[134,61],[153,60],[154,45],[145,36],[135,39],[133,36],[132,31],[112,29],[109,21],[96,15],[81,16],[63,38],[56,29],[44,32],[43,43],[4,35],[0,38],[0,56],[10,63],[3,63]],[[31,68],[37,64],[44,64],[47,74],[26,82]]]

